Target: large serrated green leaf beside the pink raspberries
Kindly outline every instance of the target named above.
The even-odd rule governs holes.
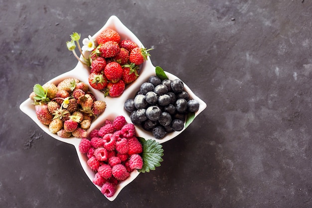
[[[138,137],[138,140],[141,142],[143,148],[143,167],[138,171],[141,173],[154,171],[156,167],[160,166],[160,162],[163,161],[161,158],[163,156],[162,146],[152,139],[145,140],[142,137]]]

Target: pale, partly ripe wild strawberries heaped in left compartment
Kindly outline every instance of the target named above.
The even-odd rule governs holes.
[[[62,138],[84,138],[91,122],[104,112],[106,103],[96,100],[86,83],[66,78],[59,84],[35,84],[29,98],[38,120]]]

